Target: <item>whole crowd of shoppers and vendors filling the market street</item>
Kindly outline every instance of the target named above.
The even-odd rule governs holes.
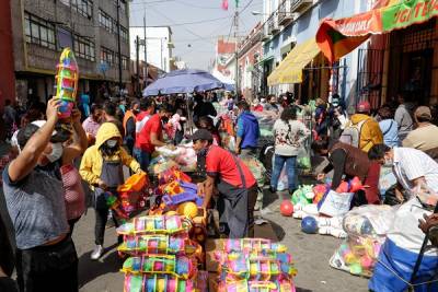
[[[313,141],[314,154],[326,155],[330,162],[318,179],[333,171],[332,189],[344,176],[357,176],[367,186],[355,195],[354,206],[384,202],[378,187],[380,165],[393,168],[400,202],[407,198],[406,191],[423,184],[438,191],[438,139],[434,135],[438,127],[429,107],[414,107],[402,95],[397,107],[383,105],[376,115],[368,102],[358,103],[355,114],[348,115],[338,95],[330,104],[318,98],[307,106],[289,93],[252,102],[231,94],[219,102],[216,93],[198,93],[192,102],[184,96],[158,96],[103,104],[87,103],[90,96],[84,95],[68,120],[59,120],[59,101],[54,98],[24,113],[10,101],[5,103],[3,119],[12,147],[1,165],[0,223],[10,223],[11,229],[0,226],[0,277],[11,276],[14,266],[20,291],[78,291],[78,256],[71,235],[85,208],[95,209],[91,258],[96,260],[104,253],[110,217],[106,196],[116,194],[123,184],[123,167],[137,174],[148,172],[157,148],[173,149],[183,139],[193,142],[198,170],[205,173],[198,184],[205,196],[203,207],[212,207],[218,192],[215,205],[221,223],[227,223],[223,232],[230,237],[253,236],[260,194],[241,159],[258,156],[256,112],[278,115],[273,126],[273,192],[285,165],[289,194],[297,189],[297,156],[308,139]],[[227,130],[218,115],[220,103],[234,117],[233,149],[226,149],[220,135]],[[303,110],[311,110],[310,127],[298,117]],[[83,189],[82,180],[90,189]],[[117,215],[112,218],[117,226]],[[420,227],[433,225],[437,225],[436,215],[426,218]],[[8,291],[2,288],[11,287],[10,279],[3,279],[0,290]]]

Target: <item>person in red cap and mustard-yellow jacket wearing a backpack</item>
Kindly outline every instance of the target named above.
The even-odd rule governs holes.
[[[351,116],[350,121],[346,125],[347,128],[355,128],[359,133],[358,148],[368,152],[374,144],[383,143],[383,133],[380,130],[379,122],[370,117],[371,105],[369,102],[360,102],[357,105],[356,114]],[[344,136],[344,133],[342,136]],[[341,137],[341,140],[343,137]]]

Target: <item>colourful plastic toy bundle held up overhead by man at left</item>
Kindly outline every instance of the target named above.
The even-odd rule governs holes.
[[[79,70],[74,59],[74,54],[70,48],[65,48],[57,65],[56,96],[60,98],[61,104],[58,109],[60,119],[68,118],[76,103],[78,92]]]

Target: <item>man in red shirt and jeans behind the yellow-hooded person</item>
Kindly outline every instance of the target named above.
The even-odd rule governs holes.
[[[173,108],[168,104],[158,106],[158,113],[151,116],[137,136],[134,156],[140,163],[141,170],[147,171],[155,147],[163,147],[163,122],[168,122]]]

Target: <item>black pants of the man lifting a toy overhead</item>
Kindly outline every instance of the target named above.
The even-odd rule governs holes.
[[[16,277],[21,292],[76,292],[78,255],[70,236],[50,246],[16,250]]]

